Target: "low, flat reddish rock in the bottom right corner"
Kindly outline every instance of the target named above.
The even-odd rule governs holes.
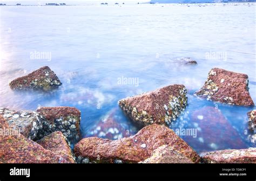
[[[256,148],[212,151],[201,158],[205,163],[256,163]]]

